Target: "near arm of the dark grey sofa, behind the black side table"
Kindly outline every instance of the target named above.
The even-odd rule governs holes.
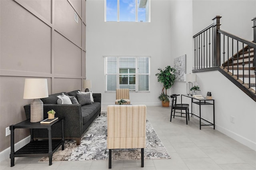
[[[24,106],[26,118],[30,119],[30,105]],[[57,105],[44,104],[44,119],[48,117],[47,112],[50,110],[56,112],[55,117],[64,117],[64,136],[81,137],[83,130],[82,109],[80,104]],[[38,134],[39,135],[39,134]],[[42,137],[42,136],[34,136]],[[54,136],[53,137],[58,137]]]

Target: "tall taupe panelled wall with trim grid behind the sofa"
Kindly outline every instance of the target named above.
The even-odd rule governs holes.
[[[5,128],[26,119],[25,78],[46,78],[49,94],[82,90],[85,10],[86,0],[0,0],[0,152],[10,147]],[[15,143],[28,135],[15,130]]]

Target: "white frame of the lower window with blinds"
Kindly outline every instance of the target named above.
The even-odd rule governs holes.
[[[116,55],[104,55],[104,92],[105,93],[115,93],[116,90],[113,91],[108,91],[107,90],[107,75],[116,75],[116,88],[120,88],[120,81],[119,81],[119,77],[120,75],[124,75],[124,73],[120,73],[120,67],[119,67],[119,58],[136,58],[136,66],[135,66],[135,73],[127,73],[125,75],[135,75],[135,90],[131,90],[130,92],[134,92],[134,93],[148,93],[150,92],[150,56],[116,56]],[[117,61],[117,65],[116,65],[116,73],[106,73],[106,58],[107,57],[116,57],[116,61]],[[138,58],[148,58],[148,73],[138,73]],[[139,91],[139,81],[138,81],[138,77],[139,75],[148,75],[148,91]]]

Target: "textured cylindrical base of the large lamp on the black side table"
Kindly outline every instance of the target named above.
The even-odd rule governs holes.
[[[30,104],[30,122],[36,123],[44,120],[44,106],[40,99],[34,99]]]

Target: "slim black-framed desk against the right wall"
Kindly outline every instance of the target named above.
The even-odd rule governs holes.
[[[213,126],[213,129],[215,129],[214,99],[206,99],[206,98],[204,98],[204,99],[197,99],[197,98],[192,97],[192,96],[190,96],[190,95],[181,95],[181,103],[182,103],[182,96],[191,98],[191,114],[192,114],[192,115],[195,115],[195,114],[193,113],[193,107],[192,107],[192,106],[193,106],[193,103],[196,104],[196,105],[199,105],[199,116],[198,116],[198,115],[195,115],[195,116],[199,118],[200,130],[201,130],[201,126]],[[209,101],[210,101],[210,102],[209,102]],[[205,120],[205,119],[203,119],[203,118],[201,117],[201,105],[212,105],[212,106],[213,106],[213,123],[211,123],[211,122],[209,122],[209,121],[207,121],[207,120]],[[207,124],[207,125],[202,125],[202,124],[201,124],[201,119],[204,120],[204,121],[206,121],[206,122],[208,122],[209,124]]]

